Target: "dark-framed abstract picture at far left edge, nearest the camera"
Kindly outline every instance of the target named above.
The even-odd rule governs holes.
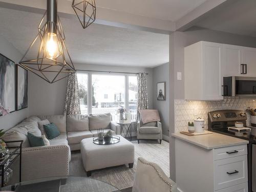
[[[15,62],[0,53],[0,105],[15,111]],[[0,112],[0,116],[2,113]]]

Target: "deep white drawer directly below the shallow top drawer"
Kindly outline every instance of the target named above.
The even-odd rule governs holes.
[[[214,162],[215,190],[248,182],[247,155]]]

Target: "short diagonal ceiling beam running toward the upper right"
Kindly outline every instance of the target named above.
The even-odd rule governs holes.
[[[176,21],[176,31],[185,31],[192,27],[199,19],[201,19],[205,14],[214,9],[215,7],[223,4],[227,0],[208,0],[198,6],[193,11]]]

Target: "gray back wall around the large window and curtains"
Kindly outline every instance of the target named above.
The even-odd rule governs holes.
[[[115,66],[100,66],[76,64],[77,70],[98,70],[98,71],[115,71],[115,72],[146,72],[148,101],[150,108],[153,108],[153,89],[152,89],[152,69],[135,68],[135,67],[115,67]],[[53,115],[63,114],[65,102],[67,79],[60,80],[53,84],[42,80],[34,74],[30,74],[29,78],[29,115]]]

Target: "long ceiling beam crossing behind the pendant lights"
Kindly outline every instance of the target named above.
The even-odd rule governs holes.
[[[61,0],[61,3],[58,4],[59,15],[63,17],[74,17],[71,4],[72,0]],[[46,1],[0,0],[0,7],[33,13],[44,13]],[[170,20],[151,18],[102,7],[97,7],[95,23],[163,34],[169,34],[175,31],[175,23]]]

